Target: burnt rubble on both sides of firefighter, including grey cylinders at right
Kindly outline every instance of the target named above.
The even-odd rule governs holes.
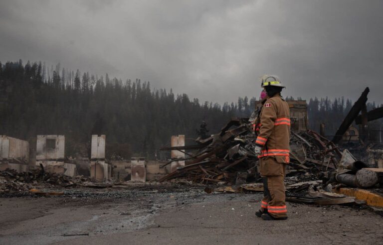
[[[184,179],[199,184],[216,184],[206,192],[262,191],[258,157],[254,155],[256,134],[248,118],[232,119],[218,133],[197,139],[196,145],[164,147],[162,150],[196,150],[186,158],[186,166],[160,181]],[[343,150],[313,130],[292,132],[290,163],[286,168],[286,189],[291,201],[308,195],[307,203],[340,204],[354,202],[344,195],[332,193],[333,187],[371,188],[382,183],[383,173],[368,168],[348,150]],[[219,187],[221,186],[221,187]],[[337,196],[340,195],[340,196]],[[312,200],[314,198],[314,200]],[[330,199],[337,199],[336,201]],[[340,199],[342,198],[342,199]]]

